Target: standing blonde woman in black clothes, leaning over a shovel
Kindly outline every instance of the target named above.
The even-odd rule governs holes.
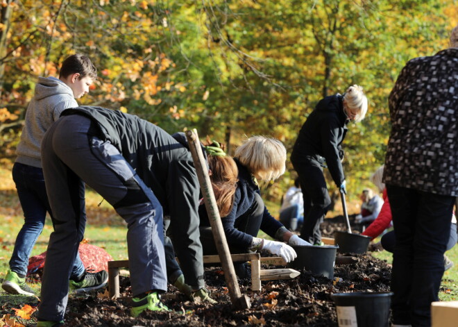
[[[362,87],[353,85],[343,95],[321,99],[300,128],[291,162],[303,191],[304,223],[300,236],[307,242],[321,244],[320,224],[331,204],[323,167],[328,167],[334,183],[346,193],[341,144],[348,122],[362,121],[366,112],[367,98]]]

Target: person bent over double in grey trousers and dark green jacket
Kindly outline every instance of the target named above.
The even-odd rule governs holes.
[[[174,247],[189,296],[214,303],[204,287],[198,233],[198,180],[189,150],[158,126],[117,110],[67,109],[44,135],[42,163],[53,211],[38,326],[63,324],[68,279],[83,238],[87,183],[127,223],[132,315],[168,310],[163,215],[171,218]],[[83,203],[81,205],[81,203]]]

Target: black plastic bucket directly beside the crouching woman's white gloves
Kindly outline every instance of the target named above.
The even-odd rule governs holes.
[[[292,247],[298,256],[294,261],[289,262],[287,267],[305,269],[314,275],[334,278],[334,265],[339,246],[293,245]]]

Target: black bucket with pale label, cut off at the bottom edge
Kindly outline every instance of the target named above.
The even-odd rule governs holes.
[[[392,292],[332,294],[339,327],[389,327]]]

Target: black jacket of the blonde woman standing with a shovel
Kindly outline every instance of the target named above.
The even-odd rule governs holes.
[[[291,162],[296,170],[301,165],[319,166],[325,161],[337,186],[345,180],[339,152],[348,130],[342,101],[340,94],[319,101],[300,128],[291,153]]]

